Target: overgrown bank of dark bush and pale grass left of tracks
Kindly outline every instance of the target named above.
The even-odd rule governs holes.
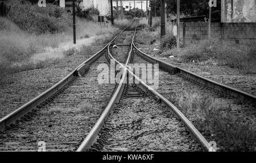
[[[51,56],[38,56],[38,53],[48,52],[48,49],[57,48],[73,39],[71,13],[50,4],[38,7],[25,1],[14,2],[14,5],[8,4],[12,5],[9,16],[0,17],[1,84],[13,82],[13,73],[56,64],[57,59],[60,59],[56,53]],[[76,25],[78,39],[94,36],[89,38],[89,42],[97,38],[104,41],[106,35],[109,37],[118,31],[111,24],[100,26],[97,22],[81,18],[76,18]],[[35,59],[37,57],[38,60]]]

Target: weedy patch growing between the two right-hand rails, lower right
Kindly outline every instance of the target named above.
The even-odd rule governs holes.
[[[193,120],[209,141],[216,141],[219,151],[256,150],[255,129],[230,113],[230,103],[192,91],[172,93],[170,101]]]

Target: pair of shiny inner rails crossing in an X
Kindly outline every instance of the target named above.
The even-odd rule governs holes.
[[[135,30],[135,32],[136,32],[136,30]],[[135,32],[134,32],[134,36],[135,36]],[[134,40],[134,37],[133,37],[133,40]],[[102,126],[104,126],[104,123],[105,123],[106,119],[108,118],[108,115],[110,114],[110,112],[113,110],[115,103],[117,103],[119,101],[119,99],[121,98],[122,91],[125,86],[127,74],[130,74],[131,77],[133,77],[136,81],[139,82],[139,87],[141,87],[142,90],[146,91],[147,93],[151,93],[157,99],[159,99],[160,102],[162,102],[164,105],[166,105],[167,108],[169,108],[171,110],[171,112],[177,118],[179,118],[181,120],[181,122],[183,122],[185,128],[188,129],[191,136],[196,141],[198,141],[200,143],[200,145],[203,147],[203,149],[205,151],[214,151],[214,149],[210,146],[210,144],[204,138],[204,136],[201,135],[201,133],[195,128],[195,126],[193,126],[193,124],[191,122],[189,122],[189,120],[170,101],[168,101],[166,98],[164,98],[162,95],[160,95],[157,91],[152,89],[152,87],[148,86],[142,80],[140,80],[139,77],[135,76],[135,74],[131,71],[131,69],[127,68],[128,64],[131,60],[133,46],[134,46],[134,44],[132,42],[129,55],[127,56],[126,63],[125,63],[125,65],[123,65],[120,62],[118,62],[117,60],[115,60],[115,58],[112,56],[112,54],[110,53],[110,50],[109,50],[109,47],[110,47],[110,45],[109,45],[107,57],[109,58],[109,60],[111,62],[114,62],[114,64],[118,64],[119,66],[122,67],[123,74],[121,77],[121,81],[119,82],[117,90],[115,91],[111,101],[109,102],[109,105],[105,108],[104,112],[100,116],[100,119],[98,119],[98,122],[94,125],[93,129],[89,132],[86,139],[82,142],[80,147],[77,149],[77,152],[86,151],[87,149],[89,149],[92,146],[93,142],[97,139],[97,135],[100,132],[100,129],[102,128]]]

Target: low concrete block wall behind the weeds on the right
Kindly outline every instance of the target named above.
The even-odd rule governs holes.
[[[182,23],[180,31],[185,24],[186,44],[197,43],[208,39],[208,23]],[[212,23],[210,35],[214,39],[222,39],[236,44],[256,43],[256,23]]]

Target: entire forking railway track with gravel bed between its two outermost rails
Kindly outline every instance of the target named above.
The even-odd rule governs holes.
[[[134,44],[136,28],[125,30],[51,89],[2,118],[0,151],[37,151],[38,141],[46,141],[47,151],[215,151],[168,101],[170,92],[193,87],[218,98],[240,98],[255,110],[253,95],[148,56]],[[118,84],[96,84],[102,63],[122,68],[115,70],[121,74]],[[136,76],[130,63],[159,64],[159,87],[141,80],[142,73]]]

